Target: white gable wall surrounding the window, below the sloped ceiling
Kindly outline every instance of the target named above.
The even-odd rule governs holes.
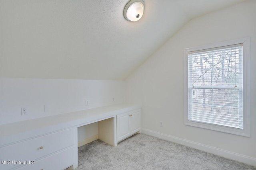
[[[251,37],[251,137],[184,125],[183,50],[244,37]],[[144,129],[256,158],[255,87],[256,1],[246,1],[190,20],[126,79],[126,100],[142,104]]]

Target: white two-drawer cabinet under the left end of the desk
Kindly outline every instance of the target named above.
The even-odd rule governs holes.
[[[20,170],[67,168],[74,164],[74,137],[74,128],[70,128],[1,147],[1,160],[25,161],[24,164],[28,165],[7,162],[0,164],[0,169],[9,170],[18,166],[22,166]],[[34,164],[30,164],[32,160],[35,161]]]

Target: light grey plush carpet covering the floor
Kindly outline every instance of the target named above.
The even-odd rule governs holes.
[[[78,148],[76,170],[256,170],[234,160],[136,134],[112,147],[100,140]]]

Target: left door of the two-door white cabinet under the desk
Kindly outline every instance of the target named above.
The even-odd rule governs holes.
[[[130,136],[130,116],[129,113],[117,115],[117,141]]]

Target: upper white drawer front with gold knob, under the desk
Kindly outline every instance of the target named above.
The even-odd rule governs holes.
[[[0,148],[2,160],[36,160],[58,150],[74,145],[74,128],[51,133],[28,141],[16,143]],[[41,148],[40,148],[41,147]],[[1,170],[8,170],[19,166],[17,164],[1,164]]]

